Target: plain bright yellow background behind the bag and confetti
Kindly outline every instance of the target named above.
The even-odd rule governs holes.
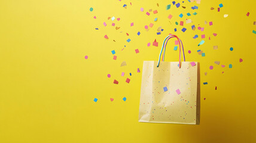
[[[256,30],[256,2],[179,2],[187,8],[176,8],[171,1],[0,1],[0,142],[255,141],[256,35],[252,30]],[[221,3],[224,7],[217,12]],[[171,4],[170,10],[166,10],[167,4]],[[193,5],[199,10],[191,10]],[[150,9],[159,13],[146,15]],[[190,16],[193,23],[184,23],[187,31],[183,33],[175,21],[185,21],[188,12],[198,14]],[[178,17],[180,13],[183,18]],[[173,15],[171,20],[169,14]],[[121,18],[114,20],[119,30],[111,26],[108,17],[112,16]],[[213,25],[205,25],[205,20]],[[150,23],[154,26],[147,32],[144,26]],[[192,24],[205,27],[205,32],[191,30]],[[159,26],[164,31],[156,35]],[[142,69],[144,60],[158,60],[160,46],[152,46],[152,42],[157,39],[160,45],[169,33],[184,42],[187,61],[200,62],[200,125],[138,122],[141,73],[136,69]],[[205,43],[198,47],[203,33]],[[108,40],[103,38],[105,34]],[[196,34],[199,38],[193,39]],[[129,43],[128,38],[132,40]],[[166,61],[178,61],[173,43],[167,46]],[[112,60],[113,49],[116,61]],[[197,54],[198,49],[206,56]],[[120,67],[122,61],[127,66]],[[228,69],[228,64],[233,68]],[[213,70],[209,70],[211,65]],[[127,77],[130,83],[125,82]],[[114,79],[118,85],[112,83]],[[94,98],[99,100],[94,102]]]

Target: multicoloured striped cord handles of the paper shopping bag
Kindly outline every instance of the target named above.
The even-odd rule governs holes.
[[[164,52],[163,52],[163,57],[162,57],[162,61],[164,61],[164,55],[165,55],[165,49],[166,49],[166,45],[167,45],[167,42],[170,38],[177,38],[178,39],[178,42],[179,42],[179,69],[181,69],[181,45],[182,45],[182,52],[183,52],[183,58],[184,58],[184,61],[185,61],[185,54],[184,54],[184,48],[183,48],[183,43],[181,41],[181,39],[178,38],[178,36],[176,35],[168,35],[164,41],[163,41],[163,45],[161,46],[161,51],[160,51],[160,55],[159,55],[159,61],[157,63],[157,67],[159,67],[159,64],[160,64],[160,58],[161,58],[161,53],[163,52],[163,48],[164,48]],[[167,41],[166,41],[167,39]]]

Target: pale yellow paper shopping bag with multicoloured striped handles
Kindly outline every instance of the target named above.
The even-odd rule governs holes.
[[[166,37],[177,38],[175,35]],[[164,39],[161,52],[165,51]],[[183,45],[182,45],[183,49]],[[184,51],[184,50],[182,50]],[[142,69],[139,122],[199,124],[200,66],[197,62],[144,61]]]

